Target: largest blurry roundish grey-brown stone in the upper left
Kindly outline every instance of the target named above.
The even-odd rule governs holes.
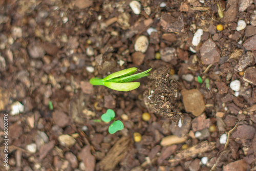
[[[32,58],[42,58],[46,54],[46,51],[38,43],[32,43],[28,45],[28,52]]]

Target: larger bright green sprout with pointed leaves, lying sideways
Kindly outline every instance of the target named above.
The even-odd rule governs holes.
[[[151,71],[151,69],[148,69],[144,72],[132,75],[137,70],[138,69],[136,67],[133,67],[112,73],[109,76],[106,76],[105,78],[95,77],[90,79],[90,83],[94,86],[106,86],[116,91],[132,91],[140,86],[140,82],[132,81],[150,75],[148,72]]]

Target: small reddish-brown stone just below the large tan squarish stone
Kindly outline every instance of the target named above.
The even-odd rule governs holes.
[[[195,119],[193,119],[192,130],[194,132],[201,131],[210,127],[210,119],[206,119],[206,115],[202,114]]]

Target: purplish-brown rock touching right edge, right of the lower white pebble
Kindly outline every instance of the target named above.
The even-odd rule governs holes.
[[[237,130],[233,132],[233,138],[252,139],[255,136],[255,129],[250,125],[239,125]]]

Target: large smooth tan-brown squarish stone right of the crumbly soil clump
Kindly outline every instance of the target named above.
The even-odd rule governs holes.
[[[199,90],[182,90],[181,95],[187,112],[191,112],[194,116],[199,116],[204,112],[204,99]]]

